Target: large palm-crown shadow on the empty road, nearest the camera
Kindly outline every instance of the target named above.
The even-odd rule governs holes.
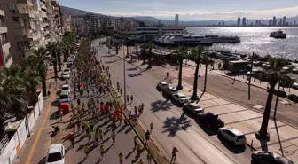
[[[163,130],[162,133],[169,132],[169,137],[175,137],[177,131],[187,130],[189,127],[192,126],[191,121],[184,116],[184,113],[181,115],[180,118],[168,117],[163,123],[164,125],[162,128],[165,130]]]

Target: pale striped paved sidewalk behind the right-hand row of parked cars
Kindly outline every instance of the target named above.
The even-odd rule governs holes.
[[[122,58],[122,54],[119,54],[118,56]],[[130,59],[126,59],[126,61],[129,62]],[[147,65],[142,66],[141,63],[142,61],[136,61],[131,64],[143,70]],[[168,68],[172,69],[173,67],[168,66]],[[185,76],[193,76],[192,66],[186,66],[184,69],[186,69],[185,72],[187,72],[187,74],[184,74]],[[161,70],[153,71],[154,76],[158,76],[160,79],[161,77],[165,77],[165,73]],[[202,66],[201,75],[204,74],[204,71],[205,67]],[[219,73],[216,73],[215,71],[208,71],[208,75],[218,74]],[[171,86],[176,86],[176,72],[173,73],[173,71],[169,71],[169,76],[169,79],[165,81],[172,82],[170,84]],[[239,77],[239,79],[240,78],[241,77]],[[191,97],[193,89],[192,85],[189,85],[186,82],[183,82],[183,85],[184,89],[181,90],[181,92],[186,96]],[[199,97],[201,94],[202,91],[198,90]],[[225,122],[226,127],[233,127],[244,133],[247,137],[247,146],[252,147],[253,150],[268,150],[271,152],[278,152],[279,154],[284,153],[286,158],[289,160],[293,160],[294,163],[298,162],[298,129],[281,121],[270,120],[268,132],[271,134],[271,140],[268,142],[258,140],[255,138],[255,132],[257,132],[261,127],[263,114],[257,113],[254,110],[248,109],[242,105],[232,103],[231,101],[224,100],[223,98],[218,98],[215,95],[208,94],[207,92],[203,94],[203,96],[200,98],[200,102],[197,103],[199,103],[199,105],[205,109],[205,112],[218,114],[219,117]]]

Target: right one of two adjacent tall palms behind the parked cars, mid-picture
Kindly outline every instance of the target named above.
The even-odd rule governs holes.
[[[196,48],[192,49],[191,54],[189,55],[189,59],[195,62],[196,68],[194,72],[194,80],[193,80],[193,90],[192,90],[192,99],[198,98],[198,76],[199,76],[199,67],[200,63],[203,62],[203,60],[207,59],[207,56],[205,53],[203,53],[204,47],[199,45]]]

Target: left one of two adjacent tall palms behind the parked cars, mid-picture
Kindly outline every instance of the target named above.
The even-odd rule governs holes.
[[[179,64],[179,77],[178,77],[178,85],[176,87],[176,89],[181,90],[183,89],[182,86],[182,67],[183,67],[183,61],[184,59],[187,58],[188,55],[188,49],[184,46],[182,47],[178,47],[178,49],[175,51],[176,53],[176,59],[178,61]]]

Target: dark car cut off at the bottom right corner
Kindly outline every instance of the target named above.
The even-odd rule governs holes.
[[[251,158],[253,163],[260,164],[294,164],[293,161],[287,160],[276,152],[255,151]]]

